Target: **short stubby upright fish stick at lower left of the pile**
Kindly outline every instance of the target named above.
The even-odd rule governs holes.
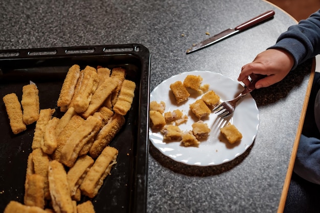
[[[38,174],[29,175],[25,184],[24,203],[27,206],[44,208],[44,177]]]

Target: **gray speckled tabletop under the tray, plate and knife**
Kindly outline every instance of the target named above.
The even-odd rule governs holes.
[[[192,70],[237,79],[241,66],[295,21],[260,0],[1,1],[0,49],[141,43],[151,54],[150,89]],[[186,55],[192,43],[267,10],[262,25]],[[181,36],[184,34],[185,36]],[[191,167],[150,145],[147,212],[276,212],[302,112],[312,61],[280,84],[256,90],[260,116],[252,147],[216,167]],[[281,111],[281,113],[279,113]]]

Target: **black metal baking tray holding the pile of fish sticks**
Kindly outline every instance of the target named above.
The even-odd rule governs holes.
[[[54,116],[59,117],[59,92],[73,64],[81,68],[86,65],[123,67],[127,70],[126,79],[136,83],[125,125],[110,143],[119,150],[118,163],[92,201],[96,212],[146,212],[150,53],[144,45],[2,50],[1,97],[15,92],[21,100],[22,86],[32,81],[39,89],[40,109],[55,108]],[[14,135],[1,98],[0,125],[0,212],[3,212],[9,201],[24,201],[27,159],[32,152],[35,123]]]

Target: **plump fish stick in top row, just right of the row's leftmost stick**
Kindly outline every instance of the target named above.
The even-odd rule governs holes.
[[[86,66],[83,70],[83,79],[79,91],[75,93],[73,107],[77,113],[84,112],[92,99],[98,87],[99,79],[97,70],[93,67]]]

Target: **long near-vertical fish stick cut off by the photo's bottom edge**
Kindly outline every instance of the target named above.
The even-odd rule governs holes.
[[[66,179],[66,172],[63,165],[57,160],[52,160],[49,163],[49,186],[52,206],[55,212],[73,213],[74,206]]]

